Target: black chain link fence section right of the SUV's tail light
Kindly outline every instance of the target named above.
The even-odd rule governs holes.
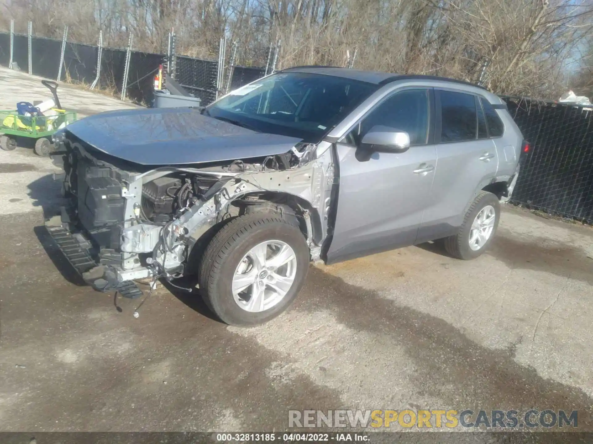
[[[512,202],[593,223],[593,110],[504,98],[531,144]]]

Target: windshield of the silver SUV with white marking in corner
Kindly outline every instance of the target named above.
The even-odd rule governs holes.
[[[316,143],[377,88],[342,77],[278,73],[235,89],[204,112],[262,133]]]

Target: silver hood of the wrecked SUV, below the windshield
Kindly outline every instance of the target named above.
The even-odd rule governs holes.
[[[195,108],[107,111],[66,127],[94,148],[141,165],[183,165],[273,156],[301,139],[257,133]]]

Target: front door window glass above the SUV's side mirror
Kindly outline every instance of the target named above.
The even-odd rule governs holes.
[[[428,91],[410,89],[387,98],[346,136],[346,143],[358,144],[375,125],[406,131],[411,145],[425,144],[428,137]]]

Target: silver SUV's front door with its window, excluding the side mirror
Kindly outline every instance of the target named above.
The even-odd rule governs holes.
[[[415,242],[436,171],[429,110],[429,89],[395,92],[337,143],[340,184],[328,263]],[[410,149],[361,152],[362,137],[376,125],[406,131]]]

